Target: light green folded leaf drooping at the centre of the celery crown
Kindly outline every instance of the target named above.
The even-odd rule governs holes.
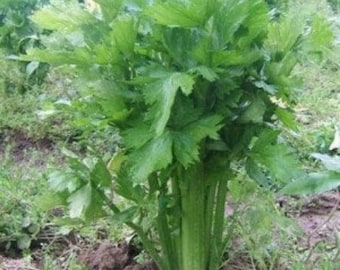
[[[185,95],[189,95],[193,84],[194,80],[190,75],[176,72],[166,74],[145,89],[145,100],[152,105],[148,112],[148,119],[153,122],[156,136],[164,131],[177,91],[181,89]]]

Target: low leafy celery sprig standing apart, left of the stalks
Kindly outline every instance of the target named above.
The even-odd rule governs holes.
[[[103,204],[108,203],[111,175],[99,158],[80,158],[64,150],[71,168],[66,172],[54,172],[49,176],[50,187],[60,193],[59,199],[51,197],[41,202],[43,208],[68,205],[71,218],[84,216],[95,219],[105,216]],[[112,197],[112,194],[109,198]]]

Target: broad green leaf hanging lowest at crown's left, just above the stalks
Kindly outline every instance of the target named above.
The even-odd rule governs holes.
[[[164,132],[129,156],[133,182],[141,183],[155,171],[166,168],[172,161],[172,137]]]

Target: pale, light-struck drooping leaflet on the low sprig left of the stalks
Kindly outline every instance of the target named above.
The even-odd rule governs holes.
[[[87,184],[68,198],[70,218],[80,218],[86,208],[90,205],[92,199],[92,187]]]

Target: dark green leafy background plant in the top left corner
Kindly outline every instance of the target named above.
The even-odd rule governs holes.
[[[48,65],[10,60],[28,48],[39,46],[40,30],[28,16],[46,0],[1,1],[0,3],[0,89],[7,93],[23,93],[32,85],[41,84]]]

